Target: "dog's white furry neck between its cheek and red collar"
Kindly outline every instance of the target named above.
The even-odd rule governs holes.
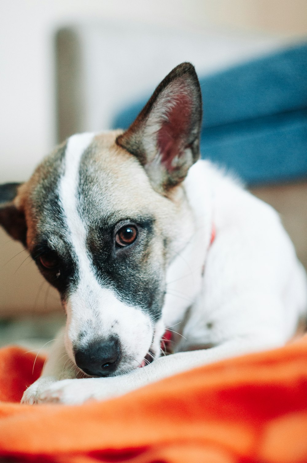
[[[181,322],[202,285],[203,269],[214,227],[213,193],[206,163],[198,161],[184,180],[186,197],[194,218],[189,241],[166,272],[166,298],[162,318],[166,327]]]

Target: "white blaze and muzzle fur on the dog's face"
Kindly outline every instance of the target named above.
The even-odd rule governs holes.
[[[86,148],[91,144],[92,133],[73,135],[68,139],[65,153],[65,171],[60,180],[59,197],[68,226],[68,241],[77,257],[79,285],[66,302],[67,325],[65,332],[66,350],[74,360],[73,344],[86,325],[91,325],[82,343],[93,339],[107,340],[116,334],[123,353],[133,357],[134,364],[125,363],[124,357],[118,371],[141,364],[150,347],[154,327],[149,316],[139,308],[128,306],[117,299],[110,288],[102,288],[92,268],[86,252],[86,223],[77,210],[76,194],[79,182],[80,161]]]

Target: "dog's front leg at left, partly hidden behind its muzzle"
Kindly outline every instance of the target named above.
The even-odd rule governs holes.
[[[62,379],[75,378],[75,371],[76,366],[68,357],[65,349],[63,329],[52,346],[49,358],[44,365],[42,375],[25,390],[21,403],[37,403],[40,394],[43,394],[52,384]]]

